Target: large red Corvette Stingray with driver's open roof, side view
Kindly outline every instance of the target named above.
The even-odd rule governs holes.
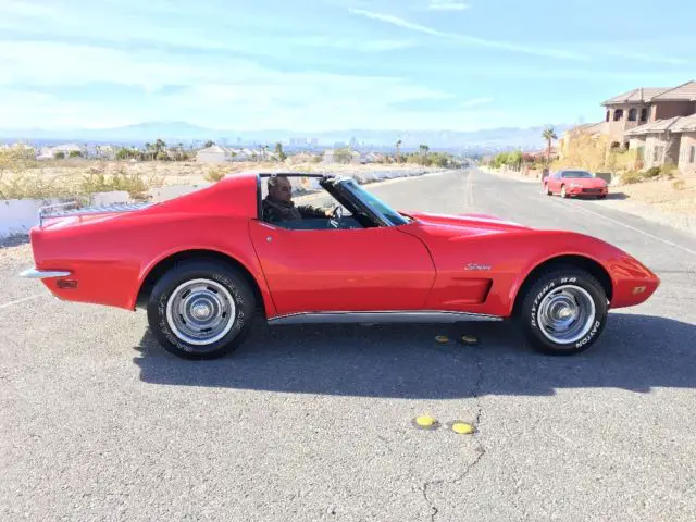
[[[539,351],[576,353],[597,340],[609,308],[639,304],[659,285],[594,237],[397,212],[334,176],[301,175],[338,202],[332,216],[265,222],[269,176],[48,213],[30,233],[36,268],[22,275],[63,300],[145,308],[162,346],[187,358],[229,351],[257,314],[270,324],[511,319]]]

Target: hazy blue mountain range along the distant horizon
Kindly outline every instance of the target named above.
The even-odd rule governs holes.
[[[153,142],[158,138],[169,145],[183,142],[200,142],[211,139],[219,144],[235,145],[272,145],[282,141],[287,145],[295,140],[316,140],[318,146],[333,147],[336,144],[353,144],[365,147],[394,147],[397,139],[401,140],[403,149],[417,148],[420,144],[427,144],[431,149],[471,149],[471,148],[522,148],[540,149],[544,147],[542,133],[549,125],[533,127],[499,127],[480,130],[323,130],[315,133],[295,132],[291,129],[268,130],[234,130],[212,129],[187,122],[148,122],[114,128],[75,128],[48,130],[41,128],[1,129],[0,139],[3,141],[28,142],[110,142],[139,146]],[[551,125],[556,134],[560,135],[571,125]]]

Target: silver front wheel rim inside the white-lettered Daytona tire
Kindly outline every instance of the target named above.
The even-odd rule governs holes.
[[[536,321],[547,339],[568,345],[587,335],[596,315],[595,301],[587,290],[575,285],[562,285],[544,297]]]

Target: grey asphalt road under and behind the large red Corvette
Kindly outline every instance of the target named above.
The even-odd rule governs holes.
[[[572,358],[499,324],[259,325],[222,360],[162,351],[144,312],[60,302],[0,251],[0,520],[696,519],[696,237],[452,172],[375,186],[608,239],[655,270]],[[417,430],[430,413],[442,427]],[[474,422],[457,435],[452,420]]]

